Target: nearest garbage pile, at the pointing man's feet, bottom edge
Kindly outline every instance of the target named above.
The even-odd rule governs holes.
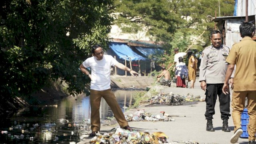
[[[116,128],[115,132],[96,134],[90,144],[162,144],[167,142],[168,136],[163,132],[137,132]]]

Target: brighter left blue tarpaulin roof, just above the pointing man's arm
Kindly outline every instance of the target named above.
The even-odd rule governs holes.
[[[132,49],[127,46],[125,43],[120,42],[110,42],[110,48],[117,54],[119,58],[122,58],[123,60],[129,60],[130,57],[132,61],[136,60],[147,60],[143,56],[140,56],[136,52],[132,51]]]

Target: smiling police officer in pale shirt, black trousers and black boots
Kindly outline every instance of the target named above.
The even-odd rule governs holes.
[[[231,116],[230,95],[225,95],[222,92],[222,86],[228,68],[226,58],[230,49],[227,46],[222,45],[221,33],[218,30],[211,32],[210,40],[212,45],[205,48],[202,52],[199,73],[199,82],[201,82],[201,88],[205,91],[206,95],[206,112],[204,114],[207,120],[206,130],[210,132],[215,131],[212,126],[212,116],[215,114],[214,107],[218,95],[221,119],[223,120],[222,131],[230,132],[230,128],[228,128],[228,119],[229,116]]]

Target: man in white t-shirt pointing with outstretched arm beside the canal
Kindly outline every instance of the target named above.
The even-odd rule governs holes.
[[[100,101],[103,97],[110,106],[116,121],[121,128],[132,131],[116,101],[116,96],[110,88],[110,69],[116,66],[121,70],[129,71],[132,76],[138,75],[134,70],[119,63],[110,55],[104,55],[100,44],[92,47],[92,57],[87,58],[81,65],[80,70],[91,79],[90,106],[91,106],[91,130],[89,136],[96,136],[100,131]],[[92,74],[86,69],[90,67]]]

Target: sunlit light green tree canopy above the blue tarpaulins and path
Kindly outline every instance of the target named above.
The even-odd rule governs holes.
[[[210,45],[210,32],[214,30],[212,17],[215,11],[218,13],[217,0],[114,0],[114,6],[115,24],[123,32],[146,31],[151,40],[162,42],[166,48],[161,56],[164,65],[171,63],[172,58],[166,57],[174,55],[174,48],[184,52],[194,44],[191,49],[202,51]],[[233,11],[234,0],[220,0],[220,16],[232,16]],[[163,64],[161,59],[157,61]]]

